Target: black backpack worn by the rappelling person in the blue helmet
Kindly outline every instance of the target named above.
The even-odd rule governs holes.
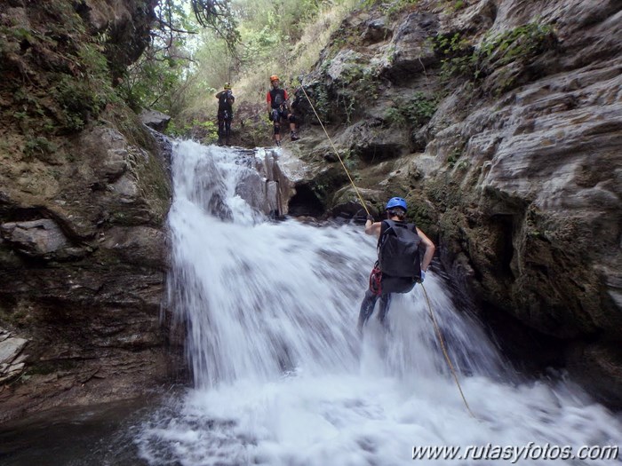
[[[393,277],[421,277],[419,245],[415,224],[383,220],[378,240],[378,260],[382,273]]]

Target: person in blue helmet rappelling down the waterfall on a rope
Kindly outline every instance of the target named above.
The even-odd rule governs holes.
[[[406,201],[393,197],[387,202],[387,219],[374,222],[367,216],[365,233],[378,238],[378,261],[370,276],[370,288],[365,292],[358,329],[371,317],[376,301],[380,298],[378,319],[384,323],[387,317],[391,293],[408,293],[415,283],[422,282],[427,266],[435,255],[435,244],[414,224],[404,222]],[[425,249],[423,261],[419,251]]]

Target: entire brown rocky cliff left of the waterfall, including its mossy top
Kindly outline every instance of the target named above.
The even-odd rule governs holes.
[[[170,372],[170,180],[113,86],[153,5],[0,5],[0,421],[131,397]]]

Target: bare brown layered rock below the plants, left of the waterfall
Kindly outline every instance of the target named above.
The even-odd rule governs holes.
[[[4,166],[0,421],[136,396],[171,374],[160,320],[171,186],[157,147],[96,126],[64,146],[62,165]]]

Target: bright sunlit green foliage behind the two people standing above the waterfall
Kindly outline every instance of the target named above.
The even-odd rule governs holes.
[[[173,1],[173,4],[178,4]],[[174,8],[176,30],[191,34],[158,39],[124,75],[120,88],[132,107],[151,107],[171,115],[171,134],[191,134],[196,122],[215,122],[214,95],[232,83],[235,121],[263,125],[268,77],[279,75],[289,94],[299,85],[355,0],[324,4],[315,0],[232,0],[237,39],[215,28],[201,29],[189,12]],[[243,104],[245,104],[243,106]],[[342,105],[349,106],[349,102]],[[259,116],[259,118],[258,118]],[[209,131],[207,131],[209,133]],[[245,134],[251,130],[246,127]]]

